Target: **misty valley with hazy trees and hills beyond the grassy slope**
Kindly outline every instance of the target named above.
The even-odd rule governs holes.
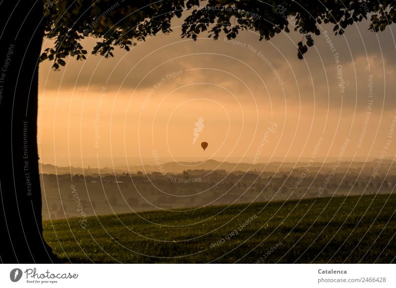
[[[97,168],[73,168],[70,169],[72,173],[54,174],[49,173],[52,170],[47,166],[41,173],[43,218],[54,220],[148,210],[389,194],[396,184],[396,170],[391,161],[382,165],[387,174],[381,170],[374,177],[375,162],[343,162],[335,173],[332,173],[332,163],[314,163],[309,169],[306,163],[270,163],[266,164],[265,171],[261,165],[251,165],[247,169],[247,164],[213,160],[202,163],[206,169],[182,170],[183,165],[166,165],[167,171],[172,169],[173,172],[146,169],[143,173],[141,170],[155,167],[148,166],[135,167],[141,168],[135,172],[125,172],[127,169],[122,172],[122,168],[113,169],[115,173],[109,173],[110,168],[100,171]],[[169,165],[173,165],[172,168]],[[219,168],[213,169],[216,165]],[[62,171],[62,168],[58,170]],[[84,223],[81,225],[83,227]]]

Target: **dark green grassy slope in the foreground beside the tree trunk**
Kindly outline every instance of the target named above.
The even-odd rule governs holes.
[[[394,194],[316,198],[45,221],[44,235],[72,263],[394,263],[395,210]]]

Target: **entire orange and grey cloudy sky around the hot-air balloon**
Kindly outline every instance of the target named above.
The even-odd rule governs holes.
[[[179,25],[129,52],[115,49],[114,58],[67,58],[61,71],[41,63],[41,163],[395,157],[395,25],[373,33],[361,22],[343,36],[322,25],[303,60],[296,32],[270,41],[249,31],[236,42],[205,34],[193,41],[180,38]],[[83,46],[89,51],[95,41]],[[50,45],[45,40],[43,49]]]

